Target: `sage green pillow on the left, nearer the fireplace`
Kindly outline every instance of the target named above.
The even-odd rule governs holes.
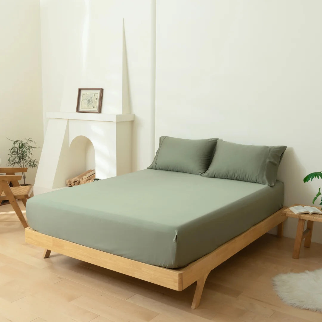
[[[147,168],[202,175],[209,167],[217,140],[160,137],[156,156]]]

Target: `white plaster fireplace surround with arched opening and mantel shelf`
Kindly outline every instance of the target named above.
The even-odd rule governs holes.
[[[75,159],[75,152],[83,147],[71,149],[73,140],[80,137],[89,139],[93,145],[98,178],[131,172],[134,114],[47,112],[46,117],[48,125],[33,189],[35,195],[63,188],[66,179],[88,170],[80,169],[83,162]]]

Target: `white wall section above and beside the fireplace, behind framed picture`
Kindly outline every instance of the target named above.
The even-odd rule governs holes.
[[[76,111],[78,88],[104,88],[102,113],[122,113],[129,101],[132,169],[145,168],[154,154],[155,1],[40,4],[44,111]]]

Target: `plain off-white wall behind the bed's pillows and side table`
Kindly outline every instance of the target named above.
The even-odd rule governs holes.
[[[287,145],[278,175],[285,205],[311,204],[322,185],[303,183],[321,170],[322,2],[156,4],[156,141]],[[288,220],[287,236],[296,224]],[[322,242],[322,225],[313,240]]]

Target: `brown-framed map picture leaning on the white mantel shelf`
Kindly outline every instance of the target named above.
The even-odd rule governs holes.
[[[79,88],[76,112],[100,113],[102,107],[102,88]]]

